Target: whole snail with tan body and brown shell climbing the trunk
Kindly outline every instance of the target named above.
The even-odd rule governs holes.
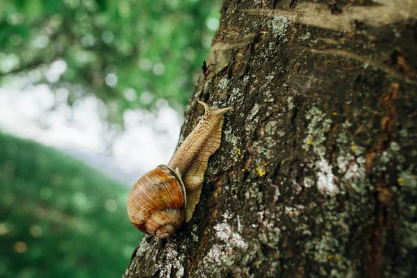
[[[140,231],[167,238],[190,221],[202,193],[208,158],[220,147],[224,113],[233,107],[209,108],[167,165],[144,174],[127,202],[129,220]]]

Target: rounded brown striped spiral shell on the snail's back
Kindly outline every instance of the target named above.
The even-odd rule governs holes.
[[[159,165],[136,181],[127,212],[140,231],[167,238],[181,227],[185,206],[186,189],[181,175],[168,165]]]

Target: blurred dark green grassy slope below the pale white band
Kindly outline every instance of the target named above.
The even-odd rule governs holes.
[[[140,241],[129,188],[0,133],[0,277],[121,277]]]

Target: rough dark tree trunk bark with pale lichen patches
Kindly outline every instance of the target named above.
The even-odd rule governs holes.
[[[197,99],[234,111],[192,220],[125,277],[417,277],[416,5],[224,1],[181,138]]]

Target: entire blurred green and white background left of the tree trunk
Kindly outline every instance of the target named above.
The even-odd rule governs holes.
[[[120,277],[221,1],[0,1],[0,277]]]

